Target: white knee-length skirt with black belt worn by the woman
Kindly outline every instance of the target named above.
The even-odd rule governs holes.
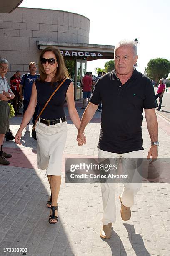
[[[67,138],[67,123],[63,122],[47,126],[37,122],[35,130],[38,168],[47,170],[46,175],[60,176],[62,154]]]

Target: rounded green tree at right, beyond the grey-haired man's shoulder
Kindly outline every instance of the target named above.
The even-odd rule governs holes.
[[[145,67],[145,74],[155,81],[155,84],[158,83],[158,80],[168,76],[170,72],[170,61],[168,59],[157,58],[151,59],[148,62],[147,67]]]

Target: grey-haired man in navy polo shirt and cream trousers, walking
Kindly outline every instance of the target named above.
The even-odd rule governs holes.
[[[115,69],[98,79],[90,103],[82,115],[77,141],[86,143],[83,131],[102,101],[101,130],[98,144],[99,158],[143,158],[143,109],[148,125],[151,146],[148,158],[158,157],[158,121],[155,114],[155,96],[152,81],[138,72],[134,41],[120,41],[115,46]],[[111,110],[111,111],[110,111]],[[137,184],[138,185],[138,184]],[[140,186],[125,183],[119,196],[121,217],[130,219],[130,207]],[[112,223],[116,220],[115,184],[102,183],[103,217],[100,236],[111,237]]]

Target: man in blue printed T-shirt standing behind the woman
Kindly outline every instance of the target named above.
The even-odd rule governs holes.
[[[30,69],[30,73],[23,75],[20,82],[20,88],[19,88],[20,98],[21,100],[23,100],[23,113],[25,113],[25,111],[27,110],[30,102],[32,84],[40,76],[39,74],[36,73],[37,67],[35,62],[30,62],[29,69]],[[33,115],[33,120],[32,120],[33,123],[35,123],[37,112],[38,112],[38,105],[36,106],[35,112]],[[29,131],[29,123],[26,126],[26,131]]]

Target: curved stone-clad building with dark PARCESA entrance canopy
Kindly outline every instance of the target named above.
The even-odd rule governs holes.
[[[9,61],[10,78],[17,70],[29,72],[31,61],[38,63],[40,51],[58,46],[75,87],[75,100],[82,98],[80,81],[86,61],[113,58],[114,46],[89,44],[90,20],[60,10],[16,8],[0,13],[0,59]]]

